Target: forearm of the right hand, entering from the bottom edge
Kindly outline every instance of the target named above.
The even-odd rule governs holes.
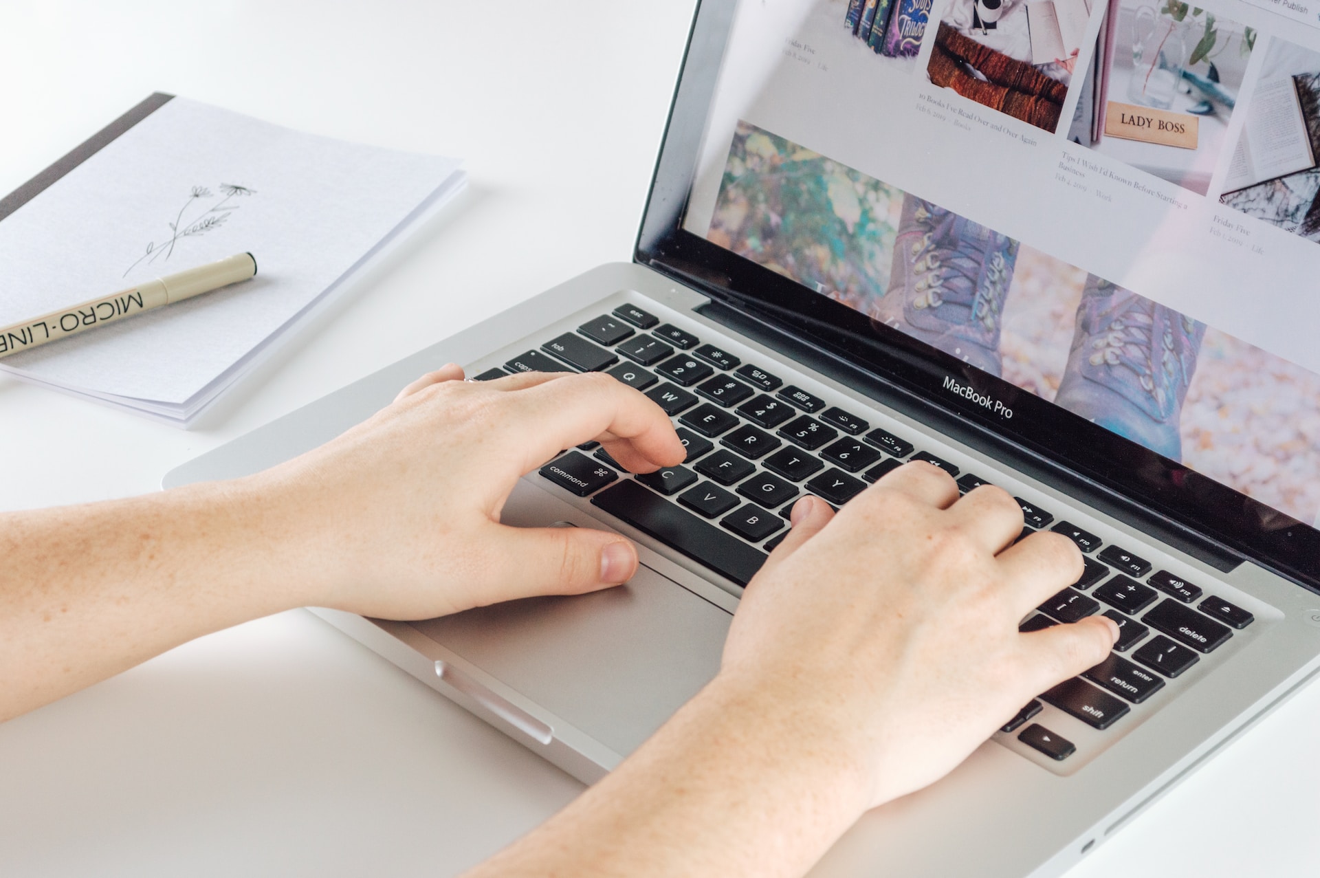
[[[770,697],[774,697],[772,694]],[[717,680],[607,778],[466,878],[804,874],[869,791],[850,730]]]

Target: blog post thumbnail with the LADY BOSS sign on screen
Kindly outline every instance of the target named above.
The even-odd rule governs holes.
[[[1255,30],[1177,0],[1113,0],[1068,139],[1205,195]]]

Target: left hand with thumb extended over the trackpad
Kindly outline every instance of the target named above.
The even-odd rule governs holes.
[[[577,594],[632,577],[632,544],[590,528],[499,523],[517,479],[599,440],[649,473],[684,458],[659,405],[602,374],[463,382],[445,366],[370,420],[252,477],[286,544],[302,602],[421,619],[533,594]]]

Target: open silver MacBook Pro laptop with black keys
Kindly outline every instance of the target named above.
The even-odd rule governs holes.
[[[1065,871],[1320,667],[1320,32],[1184,11],[1212,77],[1195,45],[1146,51],[1135,3],[1044,5],[701,3],[631,261],[165,485],[288,459],[446,362],[649,396],[681,466],[634,477],[587,442],[504,512],[627,535],[630,584],[314,610],[585,782],[715,673],[795,499],[840,507],[911,459],[1001,486],[1086,558],[1022,627],[1104,613],[1122,638],[816,874]]]

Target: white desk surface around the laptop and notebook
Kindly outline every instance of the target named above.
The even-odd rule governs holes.
[[[153,90],[463,156],[473,173],[447,222],[193,432],[0,378],[0,508],[154,490],[201,452],[627,259],[692,5],[0,5],[0,191]],[[1317,731],[1312,688],[1072,878],[1313,874]],[[296,611],[203,638],[0,726],[0,874],[445,875],[579,788]]]

